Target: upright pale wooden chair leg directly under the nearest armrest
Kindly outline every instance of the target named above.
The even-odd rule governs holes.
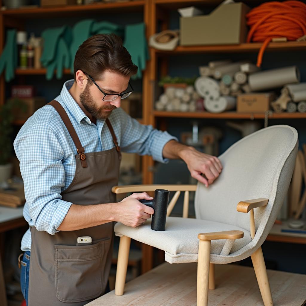
[[[197,290],[196,290],[197,306],[207,306],[208,302],[210,250],[211,250],[210,240],[199,241],[198,279],[197,279]]]

